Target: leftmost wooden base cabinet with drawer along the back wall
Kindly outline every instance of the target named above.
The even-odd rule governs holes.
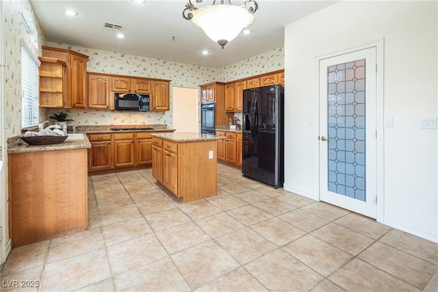
[[[91,148],[88,151],[88,170],[112,168],[112,134],[88,134]]]

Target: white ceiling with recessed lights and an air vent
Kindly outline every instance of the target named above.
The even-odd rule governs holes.
[[[188,0],[146,0],[144,4],[131,0],[30,2],[48,42],[220,68],[283,47],[285,25],[338,1],[257,0],[259,10],[248,27],[251,34],[240,34],[224,49],[183,18]],[[212,2],[192,0],[198,8]],[[244,1],[232,3],[241,5]],[[67,16],[67,9],[78,15]],[[104,29],[104,22],[123,25],[125,38],[117,38],[118,31]],[[209,55],[202,55],[203,50]]]

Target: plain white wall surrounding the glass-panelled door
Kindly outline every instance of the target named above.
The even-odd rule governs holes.
[[[285,27],[285,189],[319,198],[317,58],[382,38],[383,223],[438,242],[437,130],[420,129],[437,117],[437,1],[342,1]]]

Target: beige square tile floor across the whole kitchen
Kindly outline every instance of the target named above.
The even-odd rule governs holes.
[[[1,291],[421,291],[438,270],[436,243],[227,165],[196,202],[151,169],[90,176],[88,194],[89,230],[13,249]]]

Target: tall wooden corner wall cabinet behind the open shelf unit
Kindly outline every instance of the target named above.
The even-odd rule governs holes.
[[[62,107],[87,108],[87,60],[88,56],[66,49],[42,46],[42,56],[60,59],[66,63],[66,96],[62,98]],[[59,98],[59,97],[58,97]],[[51,107],[46,101],[42,107]],[[55,107],[59,107],[59,101]]]

